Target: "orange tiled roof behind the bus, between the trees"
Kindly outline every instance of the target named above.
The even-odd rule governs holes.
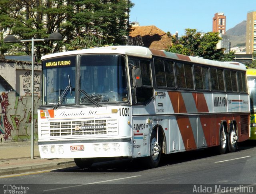
[[[160,30],[156,26],[133,26],[130,32],[130,37],[142,37],[142,42],[145,47],[164,50],[171,45],[171,39],[167,33]]]

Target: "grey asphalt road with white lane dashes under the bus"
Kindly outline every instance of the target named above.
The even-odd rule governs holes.
[[[213,149],[169,154],[158,168],[140,160],[97,163],[0,178],[0,193],[256,193],[256,141],[239,144],[234,153]]]

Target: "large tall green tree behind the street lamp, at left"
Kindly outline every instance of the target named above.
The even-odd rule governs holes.
[[[64,42],[35,42],[39,59],[62,48],[88,47],[88,40],[97,43],[93,46],[124,44],[130,25],[127,12],[132,6],[129,0],[0,0],[0,26],[20,39],[62,34]],[[30,48],[27,43],[13,49],[30,54]]]

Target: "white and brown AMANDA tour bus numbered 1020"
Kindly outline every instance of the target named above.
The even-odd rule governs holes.
[[[42,57],[41,158],[144,158],[249,138],[246,67],[139,46]]]

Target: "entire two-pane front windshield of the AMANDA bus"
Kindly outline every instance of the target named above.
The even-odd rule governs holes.
[[[42,61],[42,105],[57,108],[59,105],[101,106],[99,103],[128,102],[124,56],[86,54],[78,61],[80,64],[76,55]]]

